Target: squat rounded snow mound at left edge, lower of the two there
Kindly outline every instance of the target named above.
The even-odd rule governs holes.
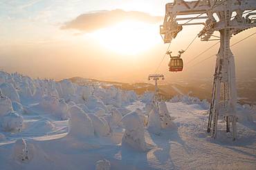
[[[4,131],[21,131],[23,125],[23,117],[15,112],[10,112],[6,116],[3,116],[1,120],[1,126]]]

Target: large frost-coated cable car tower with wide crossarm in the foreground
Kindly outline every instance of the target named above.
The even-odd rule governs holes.
[[[165,20],[160,26],[160,33],[165,43],[171,43],[183,29],[183,25],[201,24],[204,25],[203,30],[198,34],[201,41],[211,41],[211,38],[216,40],[216,37],[220,40],[208,120],[208,132],[211,132],[212,138],[217,136],[218,116],[225,118],[227,132],[230,131],[230,123],[232,124],[232,139],[237,138],[237,87],[235,59],[230,50],[230,38],[256,26],[256,13],[253,10],[256,10],[255,0],[174,0],[173,3],[167,3],[165,6]],[[195,14],[198,15],[194,17]],[[188,17],[191,15],[192,17]],[[201,23],[198,19],[205,19],[205,22]],[[196,20],[197,22],[190,23]],[[178,23],[178,21],[186,22]],[[219,32],[219,36],[214,35],[215,31]]]

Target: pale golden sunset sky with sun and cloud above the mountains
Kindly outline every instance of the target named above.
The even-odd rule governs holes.
[[[73,76],[109,81],[147,81],[154,74],[167,44],[159,34],[165,3],[143,0],[0,0],[0,70],[34,78],[61,80]],[[185,49],[202,26],[189,26],[172,41],[171,51]],[[235,43],[255,28],[232,38]],[[253,77],[256,37],[232,47],[237,76]],[[186,65],[215,42],[196,39],[185,52],[184,72],[168,72],[168,59],[157,73],[167,81],[209,78],[215,58],[194,67],[218,46]]]

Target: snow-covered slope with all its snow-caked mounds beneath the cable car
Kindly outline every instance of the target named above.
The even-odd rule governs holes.
[[[233,142],[221,119],[217,139],[210,138],[208,103],[197,98],[161,103],[157,119],[151,94],[115,87],[0,72],[0,89],[0,169],[256,167],[256,116],[248,105],[237,105]]]

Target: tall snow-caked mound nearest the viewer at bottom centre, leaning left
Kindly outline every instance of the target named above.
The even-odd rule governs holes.
[[[134,111],[122,118],[125,134],[122,136],[122,146],[128,145],[138,151],[147,151],[143,123]]]

